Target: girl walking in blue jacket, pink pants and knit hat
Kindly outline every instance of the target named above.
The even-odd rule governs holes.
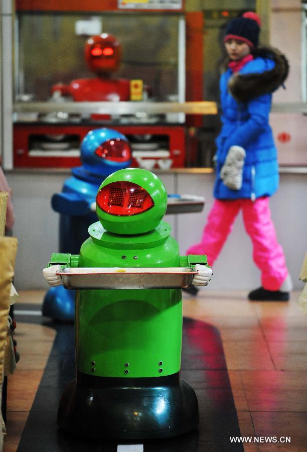
[[[287,301],[292,285],[269,208],[269,196],[278,188],[278,164],[268,117],[272,92],[286,79],[288,63],[278,50],[257,47],[260,24],[249,12],[226,27],[229,60],[220,79],[215,201],[201,242],[187,254],[206,254],[212,266],[242,209],[262,283],[248,298]]]

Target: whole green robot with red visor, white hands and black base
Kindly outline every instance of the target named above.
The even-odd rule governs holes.
[[[89,227],[80,254],[54,253],[43,270],[50,285],[61,284],[76,268],[83,278],[82,269],[92,269],[87,276],[94,281],[99,268],[114,269],[118,281],[125,269],[140,270],[137,288],[117,283],[116,275],[99,287],[88,288],[91,283],[84,280],[73,286],[79,288],[77,375],[60,401],[62,430],[90,438],[166,438],[198,424],[195,392],[180,379],[181,286],[172,283],[172,272],[166,284],[163,272],[190,267],[193,284],[204,286],[212,271],[206,256],[179,255],[171,227],[162,221],[166,207],[167,192],[155,174],[138,168],[116,171],[99,188],[99,221]],[[152,284],[146,268],[161,271],[152,275]]]

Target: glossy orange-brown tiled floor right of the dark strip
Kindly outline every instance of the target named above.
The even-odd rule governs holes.
[[[186,299],[184,315],[220,331],[242,436],[290,436],[245,450],[307,450],[307,317],[289,303],[248,302],[242,292]],[[231,449],[230,449],[231,450]]]

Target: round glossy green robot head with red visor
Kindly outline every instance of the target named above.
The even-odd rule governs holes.
[[[143,234],[157,228],[168,195],[155,174],[127,168],[108,176],[96,197],[96,212],[104,229],[114,234]]]

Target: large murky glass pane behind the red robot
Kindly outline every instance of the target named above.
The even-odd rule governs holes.
[[[85,36],[75,31],[78,22],[92,21],[121,43],[122,63],[114,78],[142,79],[155,100],[177,100],[180,17],[178,13],[97,13],[94,17],[18,13],[16,99],[46,101],[56,83],[95,77],[84,58],[84,45],[92,33],[89,30]]]

